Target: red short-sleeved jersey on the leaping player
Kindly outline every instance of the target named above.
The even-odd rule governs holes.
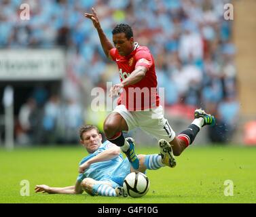
[[[141,81],[124,87],[117,104],[124,104],[128,111],[143,111],[159,106],[160,98],[157,92],[158,81],[155,62],[149,49],[135,43],[134,51],[128,56],[120,56],[116,48],[112,48],[109,54],[118,66],[121,82],[137,66],[145,66],[147,68],[147,73]]]

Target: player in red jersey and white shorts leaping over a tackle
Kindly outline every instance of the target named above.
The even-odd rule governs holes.
[[[113,85],[110,90],[111,97],[120,98],[103,126],[107,140],[121,147],[136,170],[139,168],[139,159],[134,151],[134,140],[124,138],[122,132],[140,127],[159,140],[161,150],[165,153],[162,153],[165,156],[163,162],[175,167],[174,155],[180,155],[194,141],[201,127],[214,125],[215,118],[202,109],[196,109],[194,121],[176,136],[163,115],[156,89],[155,63],[149,49],[134,41],[132,28],[128,24],[115,26],[112,31],[113,46],[100,26],[95,9],[92,8],[92,14],[86,13],[84,16],[92,20],[105,55],[115,61],[120,73],[120,83]]]

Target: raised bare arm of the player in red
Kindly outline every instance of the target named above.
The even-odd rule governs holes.
[[[92,20],[92,23],[94,24],[94,27],[98,31],[98,37],[100,38],[101,46],[103,47],[104,53],[107,56],[107,58],[111,59],[111,56],[109,55],[109,51],[113,48],[113,45],[107,39],[105,33],[103,32],[103,29],[100,26],[100,21],[98,20],[98,16],[96,14],[95,9],[92,7],[92,14],[85,13],[84,16],[90,20]]]

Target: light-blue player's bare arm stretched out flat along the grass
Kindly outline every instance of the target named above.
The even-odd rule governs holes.
[[[35,186],[35,193],[48,193],[48,194],[81,194],[83,190],[81,189],[81,182],[77,181],[75,186],[67,186],[67,187],[50,187],[46,184],[37,184]]]

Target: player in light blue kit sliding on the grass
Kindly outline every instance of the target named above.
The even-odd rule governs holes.
[[[139,155],[140,166],[134,170],[128,159],[123,159],[120,147],[106,141],[94,125],[85,125],[80,129],[80,142],[86,148],[87,157],[79,163],[79,175],[75,186],[50,187],[45,184],[35,186],[35,192],[80,194],[83,191],[90,195],[109,197],[126,196],[122,184],[130,172],[143,172],[147,169],[158,170],[169,165],[172,153],[160,147],[160,154]],[[174,159],[171,159],[173,162]]]

